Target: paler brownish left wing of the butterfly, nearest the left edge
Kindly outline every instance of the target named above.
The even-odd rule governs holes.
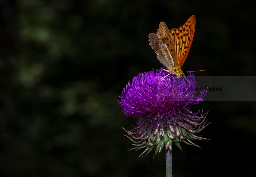
[[[155,33],[149,34],[149,45],[155,51],[157,59],[169,70],[174,66],[172,55],[164,39]]]

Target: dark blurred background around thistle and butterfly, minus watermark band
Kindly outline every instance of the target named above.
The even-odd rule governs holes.
[[[183,71],[256,76],[254,0],[0,0],[0,176],[165,177],[165,153],[128,151],[136,119],[117,103],[161,67],[160,21],[196,17]],[[241,86],[237,86],[241,87]],[[243,93],[241,93],[243,94]],[[255,102],[201,102],[201,148],[174,146],[174,177],[255,176]],[[252,162],[251,162],[252,161]]]

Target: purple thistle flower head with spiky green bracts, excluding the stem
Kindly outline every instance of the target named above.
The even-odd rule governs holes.
[[[206,125],[206,114],[192,113],[188,106],[203,101],[206,90],[196,91],[194,75],[178,79],[159,70],[140,73],[123,89],[121,101],[126,116],[138,120],[137,126],[125,130],[136,149],[146,148],[141,155],[152,149],[155,154],[164,147],[172,151],[172,144],[181,148],[180,143],[194,145],[191,140],[204,140],[196,136]],[[163,79],[164,78],[164,79]]]

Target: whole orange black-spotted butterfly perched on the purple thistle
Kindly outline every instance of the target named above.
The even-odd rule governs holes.
[[[195,33],[195,16],[192,15],[178,29],[169,30],[164,22],[160,22],[156,34],[149,34],[149,45],[155,51],[157,59],[168,69],[164,71],[183,76],[182,66],[192,44]],[[167,76],[168,76],[167,75]]]

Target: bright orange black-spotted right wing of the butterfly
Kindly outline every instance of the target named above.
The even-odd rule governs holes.
[[[195,32],[195,16],[192,15],[179,29],[171,29],[171,37],[176,47],[176,60],[182,67],[187,57]]]

